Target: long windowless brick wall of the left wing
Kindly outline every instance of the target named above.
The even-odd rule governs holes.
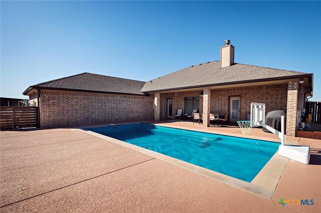
[[[41,90],[41,127],[149,120],[153,97]]]

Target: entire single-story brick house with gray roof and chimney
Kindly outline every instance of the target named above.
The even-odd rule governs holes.
[[[81,73],[30,86],[23,94],[40,106],[41,127],[173,118],[179,108],[229,113],[229,122],[247,120],[251,102],[266,112],[287,112],[286,134],[295,136],[304,102],[312,95],[313,74],[234,63],[229,40],[220,61],[181,69],[147,82]]]

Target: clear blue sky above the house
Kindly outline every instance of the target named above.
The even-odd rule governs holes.
[[[320,1],[1,1],[1,96],[80,72],[147,81],[219,60],[314,73]]]

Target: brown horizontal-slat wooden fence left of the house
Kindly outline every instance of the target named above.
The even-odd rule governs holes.
[[[37,106],[1,106],[0,126],[1,129],[22,127],[38,127]]]

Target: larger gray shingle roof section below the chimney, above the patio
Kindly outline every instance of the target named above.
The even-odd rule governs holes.
[[[220,68],[220,61],[210,61],[200,65],[190,66],[176,72],[147,81],[141,91],[157,91],[190,86],[236,83],[242,81],[267,80],[267,78],[289,77],[308,74],[305,72],[268,68],[236,63]]]

